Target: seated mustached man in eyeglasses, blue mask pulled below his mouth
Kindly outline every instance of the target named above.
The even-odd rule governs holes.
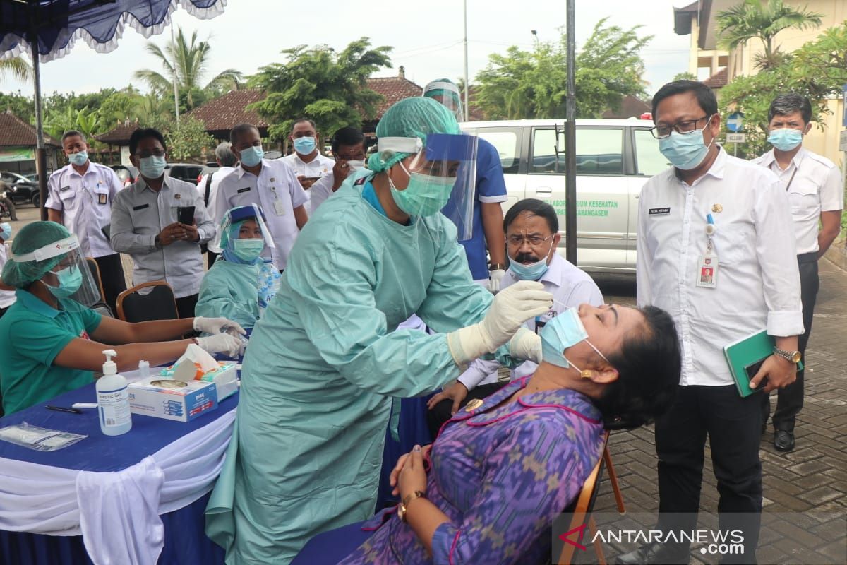
[[[562,235],[559,235],[556,210],[550,204],[534,198],[521,200],[506,213],[503,231],[509,269],[503,276],[501,288],[506,289],[518,280],[538,280],[544,290],[553,295],[550,310],[524,322],[525,328],[537,334],[547,321],[568,307],[579,307],[583,303],[603,304],[603,294],[590,275],[556,253]],[[427,402],[430,433],[433,437],[438,435],[441,425],[468,402],[494,394],[509,381],[533,374],[537,367],[538,363],[525,361],[511,370],[502,368],[504,378],[500,379],[500,363],[485,359],[473,361],[455,383]]]

